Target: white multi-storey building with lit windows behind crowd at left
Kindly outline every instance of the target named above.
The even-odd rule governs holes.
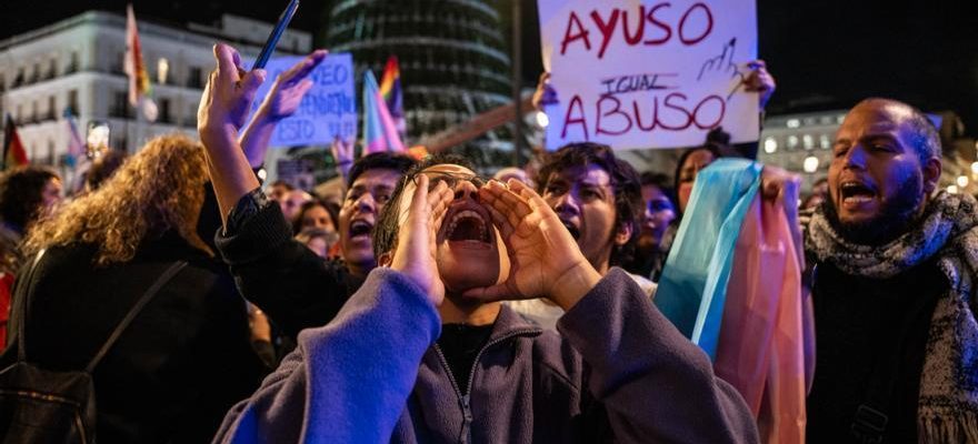
[[[233,16],[213,26],[137,20],[158,108],[154,122],[128,102],[124,16],[90,11],[0,41],[0,112],[13,117],[32,163],[67,169],[66,109],[77,117],[82,138],[90,124],[108,124],[109,147],[118,150],[133,152],[168,132],[196,135],[213,43],[229,42],[242,57],[255,57],[272,27]],[[309,33],[287,31],[279,53],[305,53],[311,43]]]

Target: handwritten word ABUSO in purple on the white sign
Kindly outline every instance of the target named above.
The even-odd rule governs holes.
[[[575,94],[567,107],[560,137],[566,139],[571,127],[579,127],[586,141],[593,135],[621,135],[636,129],[651,132],[683,131],[690,127],[700,130],[716,128],[723,121],[727,101],[717,94],[696,100],[681,92],[665,97],[642,95],[622,103],[615,95],[602,95],[593,108],[585,107],[580,95]],[[593,113],[588,111],[593,109]],[[590,124],[589,124],[590,123]]]

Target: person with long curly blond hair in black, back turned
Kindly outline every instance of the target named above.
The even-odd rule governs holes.
[[[83,369],[147,287],[189,263],[94,369],[99,441],[208,442],[262,376],[244,303],[197,234],[206,171],[200,143],[156,138],[26,240],[27,258],[42,254],[21,270],[10,332],[23,323],[28,360],[56,371]]]

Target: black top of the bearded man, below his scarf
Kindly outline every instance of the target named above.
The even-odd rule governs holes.
[[[808,396],[811,443],[858,443],[861,404],[889,420],[884,443],[917,442],[920,374],[930,319],[948,282],[934,261],[890,279],[815,271],[815,381]],[[879,405],[882,404],[882,405]]]

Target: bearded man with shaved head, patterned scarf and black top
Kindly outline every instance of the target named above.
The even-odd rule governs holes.
[[[810,442],[978,441],[978,209],[937,192],[925,114],[868,99],[839,128],[811,219]]]

